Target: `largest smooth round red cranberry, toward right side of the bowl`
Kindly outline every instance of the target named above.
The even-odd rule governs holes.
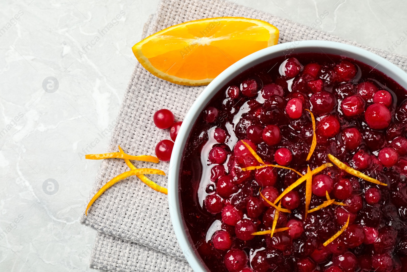
[[[372,104],[365,111],[365,120],[370,128],[387,128],[392,121],[392,113],[382,104]]]

